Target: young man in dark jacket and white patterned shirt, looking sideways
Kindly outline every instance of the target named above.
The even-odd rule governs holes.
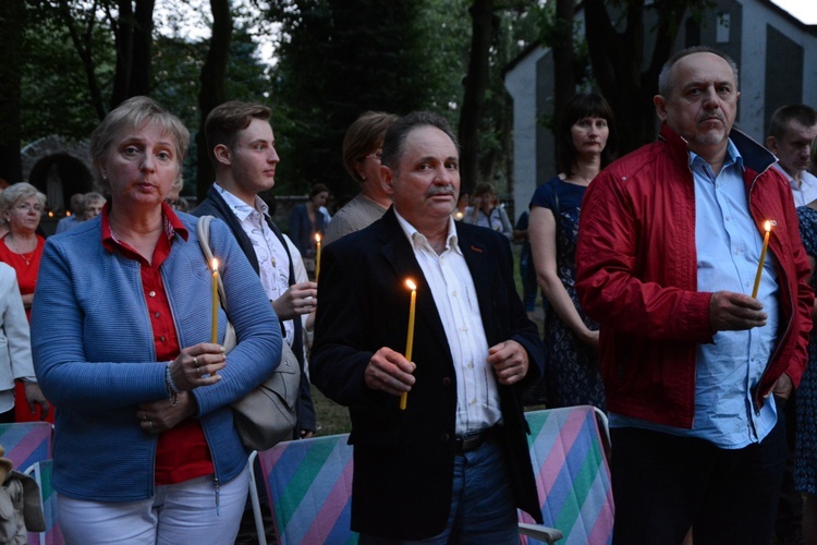
[[[281,335],[301,364],[301,396],[295,438],[315,432],[315,408],[304,364],[302,314],[315,310],[317,284],[295,282],[286,241],[272,222],[258,193],[276,181],[276,141],[264,105],[230,101],[207,116],[207,153],[216,169],[216,183],[194,216],[215,216],[230,226],[281,323]]]

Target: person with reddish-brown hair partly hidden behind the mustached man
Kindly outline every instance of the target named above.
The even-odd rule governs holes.
[[[380,184],[380,152],[383,136],[398,117],[382,111],[367,111],[349,125],[343,137],[343,165],[361,184],[361,193],[332,217],[324,243],[368,227],[386,214],[391,197]]]

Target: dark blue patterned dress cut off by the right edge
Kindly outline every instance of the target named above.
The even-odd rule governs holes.
[[[812,265],[812,288],[817,288],[817,210],[808,206],[797,208],[800,237]],[[814,317],[814,311],[812,312]],[[812,329],[808,341],[808,365],[797,388],[797,433],[794,455],[794,486],[805,493],[803,505],[803,542],[817,538],[817,330]]]

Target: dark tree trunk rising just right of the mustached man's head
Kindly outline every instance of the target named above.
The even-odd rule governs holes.
[[[471,60],[468,73],[465,76],[465,93],[459,128],[461,193],[473,191],[479,172],[477,154],[485,93],[488,89],[488,58],[493,39],[493,0],[474,0],[470,11]]]

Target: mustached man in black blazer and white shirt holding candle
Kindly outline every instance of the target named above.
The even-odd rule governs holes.
[[[381,160],[393,206],[325,249],[309,367],[352,417],[352,529],[361,543],[519,543],[516,507],[540,520],[521,393],[542,346],[510,244],[451,218],[459,149],[439,116],[397,121]]]

